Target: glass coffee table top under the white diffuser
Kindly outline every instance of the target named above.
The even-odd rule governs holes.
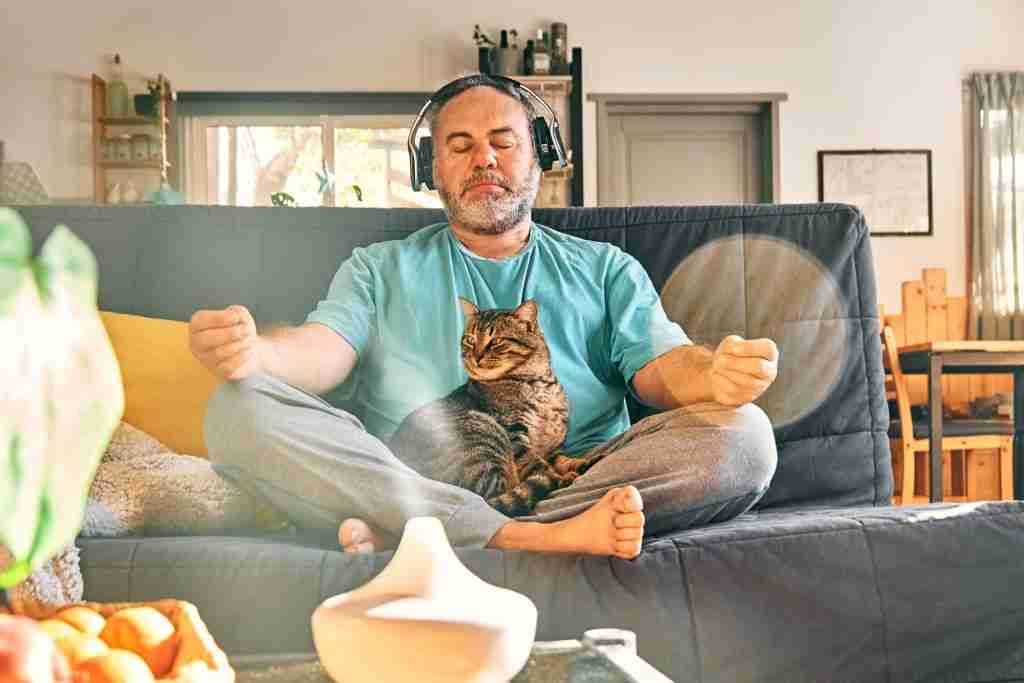
[[[236,683],[333,683],[316,655],[252,655],[231,658]],[[636,636],[595,629],[580,640],[538,641],[510,683],[672,683],[637,655]]]

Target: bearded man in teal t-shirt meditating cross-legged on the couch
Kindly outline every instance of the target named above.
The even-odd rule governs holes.
[[[508,79],[447,84],[426,119],[449,222],[356,249],[299,327],[260,332],[239,305],[193,315],[193,353],[227,380],[205,425],[218,471],[297,525],[337,532],[348,552],[393,548],[407,519],[427,515],[456,546],[633,558],[646,536],[723,521],[761,498],[775,441],[751,401],[775,379],[775,344],[691,344],[633,257],[534,223],[535,116]],[[484,311],[504,311],[536,343],[504,339]],[[389,447],[431,401],[467,383],[485,394],[498,372],[486,353],[526,358],[542,338],[553,374],[509,367],[538,391],[556,395],[557,382],[567,405],[545,419],[520,405],[502,438],[550,435],[563,415],[563,461],[600,458],[528,514],[424,476],[424,463]],[[322,398],[342,383],[361,420]],[[631,427],[627,392],[664,412]]]

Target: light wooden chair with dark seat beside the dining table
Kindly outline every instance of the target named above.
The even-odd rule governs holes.
[[[899,409],[898,433],[894,434],[893,430],[890,430],[890,439],[893,444],[893,470],[899,488],[899,495],[895,502],[899,505],[911,505],[914,503],[914,487],[918,483],[914,471],[918,454],[924,454],[921,461],[925,465],[923,469],[926,472],[924,472],[925,476],[921,481],[926,484],[922,488],[927,500],[929,424],[927,421],[919,421],[914,424],[911,419],[910,394],[907,391],[906,376],[900,368],[896,337],[889,326],[885,326],[882,330],[882,351],[890,373],[886,377],[887,392],[891,390],[895,394],[896,404]],[[1013,424],[1006,420],[943,420],[943,458],[945,459],[947,454],[951,455],[953,451],[963,450],[966,452],[968,466],[963,474],[966,492],[970,490],[967,477],[974,469],[970,466],[970,460],[976,450],[983,449],[998,450],[999,498],[1005,501],[1013,500]]]

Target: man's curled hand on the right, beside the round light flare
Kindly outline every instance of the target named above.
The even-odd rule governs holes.
[[[770,339],[729,335],[715,349],[709,376],[714,399],[742,405],[765,392],[778,374],[778,347]]]

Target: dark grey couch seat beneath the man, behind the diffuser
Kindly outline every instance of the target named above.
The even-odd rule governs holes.
[[[309,616],[390,555],[294,540],[80,540],[86,599],[196,603],[229,654],[311,651]],[[637,633],[677,681],[1024,677],[1024,503],[751,513],[635,560],[460,550],[537,604],[538,638]]]

